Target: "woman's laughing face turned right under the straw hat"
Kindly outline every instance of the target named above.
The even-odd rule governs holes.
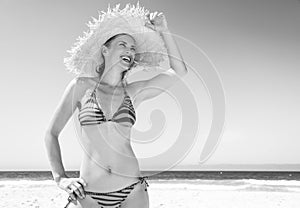
[[[121,65],[124,69],[129,69],[135,58],[135,40],[129,35],[120,35],[106,47],[104,54],[105,61],[110,64]]]

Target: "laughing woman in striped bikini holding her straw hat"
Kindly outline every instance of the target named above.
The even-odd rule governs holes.
[[[139,11],[139,17],[136,11]],[[111,15],[112,13],[115,14]],[[120,24],[118,21],[124,21],[125,13],[133,19],[128,21],[125,18],[126,21]],[[135,15],[132,15],[133,13]],[[148,184],[145,177],[141,177],[137,158],[130,145],[130,130],[136,118],[135,109],[141,102],[172,86],[179,77],[187,73],[187,69],[168,31],[163,14],[149,14],[139,5],[127,5],[123,10],[119,10],[117,5],[115,9],[109,9],[102,15],[106,16],[99,17],[98,22],[96,20],[94,25],[90,25],[93,30],[86,34],[86,40],[81,40],[81,45],[77,44],[77,48],[72,50],[74,56],[67,59],[68,66],[76,66],[74,71],[77,72],[92,70],[92,62],[86,60],[93,60],[98,66],[98,74],[93,77],[79,76],[66,88],[46,133],[48,158],[55,182],[70,195],[69,201],[73,203],[68,204],[69,207],[146,208],[149,207]],[[119,19],[114,19],[116,16]],[[110,17],[112,19],[109,19]],[[150,36],[153,37],[149,38],[143,34],[142,40],[137,33],[122,29],[126,24],[126,27],[132,27],[136,19],[136,24],[145,20],[141,27],[152,30]],[[114,35],[105,36],[105,29],[99,29],[105,21],[111,30],[112,22],[115,22],[119,31]],[[101,33],[97,33],[98,31]],[[105,42],[101,47],[95,48],[97,44],[92,40],[99,43],[100,36],[105,36]],[[153,54],[141,52],[143,43],[153,46],[153,40],[163,42],[172,72],[161,73],[149,80],[126,83],[126,73],[132,67],[143,65],[143,61],[148,60],[144,65],[151,68],[162,60],[155,59]],[[94,56],[99,60],[78,58],[82,55]],[[147,59],[149,55],[152,57]],[[80,177],[70,178],[65,174],[62,164],[58,137],[76,110],[82,132],[80,142],[85,153]]]

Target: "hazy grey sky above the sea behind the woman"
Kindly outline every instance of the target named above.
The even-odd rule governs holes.
[[[45,130],[74,78],[63,58],[109,3],[118,1],[0,0],[1,170],[50,169]],[[141,168],[296,164],[300,170],[300,1],[140,4],[164,12],[189,70],[137,109],[132,146]],[[60,135],[70,170],[79,169],[83,154],[74,118]],[[217,125],[210,140],[216,148],[201,163]]]

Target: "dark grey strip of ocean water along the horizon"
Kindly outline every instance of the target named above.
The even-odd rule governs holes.
[[[78,177],[78,171],[67,171],[70,177]],[[300,172],[274,171],[142,171],[149,180],[293,180],[300,181]],[[52,180],[50,171],[0,171],[0,181]]]

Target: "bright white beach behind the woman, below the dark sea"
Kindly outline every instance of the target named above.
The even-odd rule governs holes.
[[[299,208],[300,182],[149,180],[151,208]],[[53,181],[0,181],[2,208],[62,208],[67,194]]]

